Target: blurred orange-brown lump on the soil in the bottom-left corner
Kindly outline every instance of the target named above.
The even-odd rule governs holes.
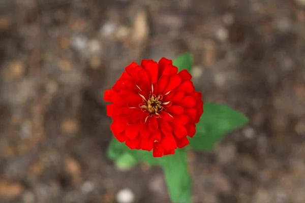
[[[24,188],[19,183],[2,183],[0,182],[0,196],[7,198],[16,198],[22,192]]]

